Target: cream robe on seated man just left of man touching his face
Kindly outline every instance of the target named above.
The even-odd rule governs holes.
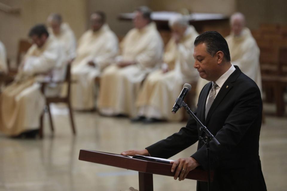
[[[136,61],[124,68],[116,64],[104,70],[100,82],[98,109],[105,115],[136,116],[136,97],[146,75],[158,67],[163,42],[155,23],[141,30],[130,30],[121,42],[122,54],[118,60]]]

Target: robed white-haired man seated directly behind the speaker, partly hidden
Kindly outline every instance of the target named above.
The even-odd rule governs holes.
[[[230,50],[231,62],[251,78],[262,93],[261,71],[259,64],[260,50],[250,30],[245,27],[245,17],[242,13],[234,13],[230,17],[231,33],[225,39]],[[196,102],[201,89],[208,81],[199,79],[196,89]]]

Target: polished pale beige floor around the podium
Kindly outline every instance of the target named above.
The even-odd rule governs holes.
[[[43,140],[0,135],[0,191],[86,191],[138,189],[135,171],[79,161],[80,149],[120,153],[142,149],[178,131],[185,123],[132,124],[127,118],[75,112],[73,136],[66,110],[54,110],[52,136],[45,118]],[[266,116],[260,135],[260,157],[268,190],[287,190],[287,118]],[[188,157],[192,146],[172,159]],[[154,190],[196,190],[196,181],[154,175]]]

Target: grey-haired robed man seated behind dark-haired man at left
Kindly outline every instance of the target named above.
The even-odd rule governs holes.
[[[51,38],[55,38],[61,42],[68,61],[76,57],[76,37],[71,30],[68,23],[62,22],[62,16],[56,13],[51,14],[48,17],[48,32]]]

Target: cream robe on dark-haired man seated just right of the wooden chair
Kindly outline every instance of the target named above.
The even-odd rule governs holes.
[[[111,63],[118,52],[118,39],[108,25],[99,31],[88,30],[79,40],[77,57],[72,63],[72,105],[77,110],[95,107],[95,78]],[[96,67],[88,65],[94,61]]]

